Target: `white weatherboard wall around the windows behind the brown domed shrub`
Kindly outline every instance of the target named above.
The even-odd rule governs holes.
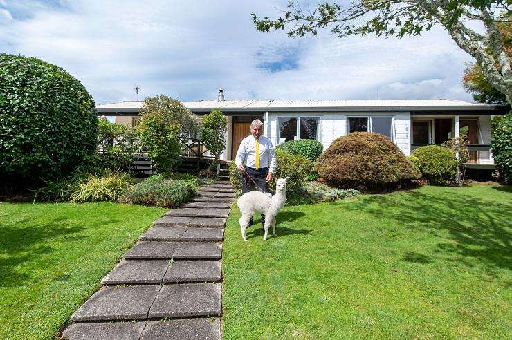
[[[271,141],[274,145],[279,144],[277,140],[277,118],[279,117],[320,117],[320,132],[318,140],[327,149],[336,138],[347,135],[347,117],[393,117],[393,137],[396,145],[405,155],[410,155],[410,113],[372,113],[372,112],[354,112],[354,113],[285,113],[270,112],[268,120],[270,122]]]

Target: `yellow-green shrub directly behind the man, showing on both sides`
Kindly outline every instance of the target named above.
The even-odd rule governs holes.
[[[275,178],[288,177],[286,182],[286,193],[300,191],[304,178],[311,173],[313,162],[302,155],[291,155],[280,149],[275,150],[275,160],[277,167],[275,169]],[[235,162],[230,164],[230,181],[235,189],[241,190],[241,173]],[[269,189],[275,191],[275,181],[270,183]]]

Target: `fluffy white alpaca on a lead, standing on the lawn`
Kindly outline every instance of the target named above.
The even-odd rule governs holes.
[[[241,237],[244,240],[246,240],[246,230],[250,218],[253,217],[255,212],[265,215],[265,235],[263,239],[266,240],[268,228],[271,225],[273,235],[275,236],[275,216],[286,200],[286,180],[288,180],[288,177],[275,180],[274,196],[271,193],[263,193],[261,191],[250,191],[240,196],[237,205],[241,211],[241,218],[238,221],[240,223]]]

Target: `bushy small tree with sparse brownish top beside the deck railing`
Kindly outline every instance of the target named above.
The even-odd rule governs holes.
[[[140,111],[142,119],[137,126],[143,150],[154,167],[162,173],[171,173],[183,155],[181,135],[197,133],[199,118],[181,102],[166,95],[147,97]]]

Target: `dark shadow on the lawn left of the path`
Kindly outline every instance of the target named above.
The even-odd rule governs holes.
[[[34,261],[35,256],[53,252],[48,245],[51,240],[64,235],[80,232],[83,227],[70,226],[65,218],[56,218],[51,223],[35,224],[34,218],[25,218],[15,226],[0,225],[0,287],[24,285],[32,277],[21,274],[14,268]],[[78,240],[86,236],[68,236],[66,240]]]

